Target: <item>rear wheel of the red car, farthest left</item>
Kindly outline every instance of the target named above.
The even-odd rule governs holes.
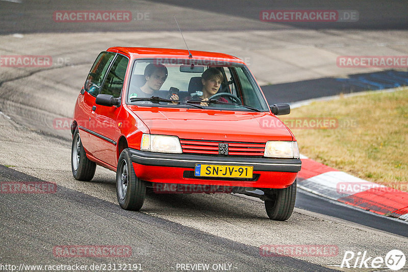
[[[78,128],[72,137],[71,168],[72,175],[77,180],[90,181],[95,175],[96,164],[87,158]]]

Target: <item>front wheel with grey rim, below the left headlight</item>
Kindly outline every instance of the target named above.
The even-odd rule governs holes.
[[[125,210],[138,211],[146,198],[146,182],[135,175],[129,149],[123,149],[116,169],[116,195]]]

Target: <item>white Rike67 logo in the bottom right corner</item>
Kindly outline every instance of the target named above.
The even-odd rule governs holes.
[[[405,265],[405,254],[400,250],[391,250],[387,253],[385,258],[382,256],[372,257],[367,254],[367,251],[363,253],[359,251],[354,253],[353,251],[344,252],[343,261],[340,268],[389,268],[391,270],[399,270]]]

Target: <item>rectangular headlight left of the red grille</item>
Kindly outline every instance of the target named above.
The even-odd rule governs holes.
[[[140,150],[161,153],[183,153],[179,138],[154,134],[143,134]]]

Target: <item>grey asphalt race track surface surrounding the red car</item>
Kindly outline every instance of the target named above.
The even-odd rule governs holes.
[[[339,265],[346,251],[366,251],[373,258],[394,249],[408,254],[406,222],[300,189],[290,219],[274,222],[260,201],[226,194],[153,194],[141,212],[125,211],[117,204],[114,172],[97,167],[90,182],[72,177],[66,123],[98,52],[115,45],[184,48],[173,14],[190,49],[242,58],[270,103],[374,90],[379,84],[389,88],[392,77],[399,78],[393,84],[406,85],[406,68],[336,66],[338,56],[408,55],[406,2],[302,3],[0,1],[0,56],[53,59],[45,68],[0,65],[0,181],[57,184],[55,194],[0,194],[0,270],[10,270],[5,264],[79,264],[91,271],[100,270],[89,268],[92,264],[130,263],[143,271],[181,271],[182,264],[184,270],[186,264],[209,264],[233,271],[377,271],[387,266]],[[261,22],[259,11],[272,9],[358,10],[360,20]],[[60,10],[130,10],[134,19],[56,22],[53,13]],[[64,245],[119,245],[132,254],[57,257],[55,248]],[[268,257],[260,254],[263,245],[323,245],[337,252]]]

